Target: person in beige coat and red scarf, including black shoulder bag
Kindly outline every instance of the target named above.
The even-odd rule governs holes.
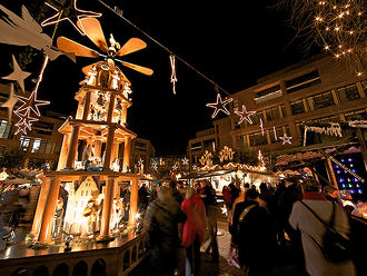
[[[355,276],[348,257],[347,214],[327,200],[315,179],[304,180],[301,187],[304,199],[294,204],[289,224],[301,233],[306,272],[310,276]]]

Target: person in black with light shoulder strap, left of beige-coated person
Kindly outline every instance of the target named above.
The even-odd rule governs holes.
[[[248,276],[271,274],[277,256],[276,229],[269,214],[259,206],[256,190],[247,190],[245,201],[236,206],[232,243]]]

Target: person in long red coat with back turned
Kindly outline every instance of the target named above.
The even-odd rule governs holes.
[[[188,188],[181,208],[187,216],[184,225],[182,245],[186,255],[186,276],[200,273],[200,244],[207,227],[207,217],[202,200],[194,188]]]

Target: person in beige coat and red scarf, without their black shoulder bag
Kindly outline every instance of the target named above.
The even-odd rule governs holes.
[[[301,201],[325,221],[329,221],[335,211],[334,228],[347,236],[349,234],[349,224],[344,209],[339,205],[327,200],[320,193],[320,185],[315,179],[306,179],[302,183],[302,189],[305,194]],[[294,204],[289,223],[294,229],[301,233],[305,266],[308,275],[356,275],[351,260],[331,263],[325,257],[321,240],[326,233],[326,227],[302,203],[298,201]]]

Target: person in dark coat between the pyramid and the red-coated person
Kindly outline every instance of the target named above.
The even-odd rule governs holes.
[[[143,229],[148,234],[151,275],[175,274],[180,244],[178,224],[185,219],[185,213],[172,197],[171,188],[160,186],[158,198],[149,204],[143,220]]]

